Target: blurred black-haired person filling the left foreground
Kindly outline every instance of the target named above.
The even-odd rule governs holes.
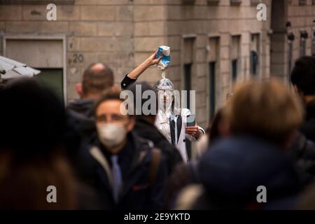
[[[18,78],[1,90],[0,105],[0,209],[73,209],[62,103],[36,80]],[[48,186],[57,203],[48,203]]]

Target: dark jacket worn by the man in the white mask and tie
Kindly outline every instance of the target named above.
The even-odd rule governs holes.
[[[161,209],[167,181],[165,160],[161,158],[155,180],[152,182],[149,175],[153,158],[152,143],[130,133],[122,151],[127,155],[122,155],[123,162],[118,160],[123,173],[123,189],[118,204],[113,201],[110,183],[111,161],[99,141],[82,148],[81,178],[97,191],[104,209]]]

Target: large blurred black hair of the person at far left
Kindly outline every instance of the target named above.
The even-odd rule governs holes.
[[[34,78],[8,81],[0,105],[0,147],[11,148],[20,158],[45,154],[64,140],[64,105]]]

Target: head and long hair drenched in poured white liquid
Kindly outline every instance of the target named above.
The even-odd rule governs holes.
[[[174,91],[174,85],[168,78],[158,80],[153,86],[158,95],[158,109],[164,113],[179,115],[179,94]]]

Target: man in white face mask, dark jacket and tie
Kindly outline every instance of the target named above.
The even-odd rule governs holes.
[[[85,180],[105,209],[161,209],[167,165],[160,149],[134,132],[134,116],[123,113],[120,91],[108,90],[95,104],[97,140],[81,154]]]

